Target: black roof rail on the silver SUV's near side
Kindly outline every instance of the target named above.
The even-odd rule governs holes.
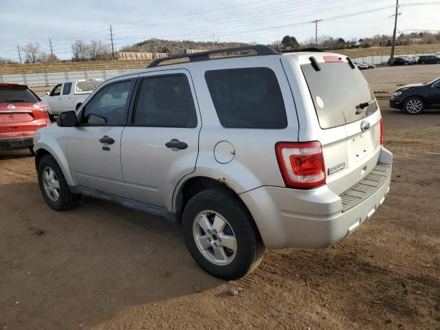
[[[228,52],[240,52],[243,50],[254,50],[256,55],[276,55],[279,54],[274,48],[266,45],[249,45],[243,47],[232,47],[232,48],[223,48],[222,50],[208,50],[206,52],[192,53],[192,54],[181,54],[181,55],[173,55],[163,58],[156,58],[153,62],[151,62],[148,67],[155,67],[159,63],[164,61],[171,61],[177,58],[189,58],[190,62],[198,62],[198,61],[209,61],[211,58],[209,57],[211,54],[221,54]],[[217,59],[217,58],[216,58]]]

